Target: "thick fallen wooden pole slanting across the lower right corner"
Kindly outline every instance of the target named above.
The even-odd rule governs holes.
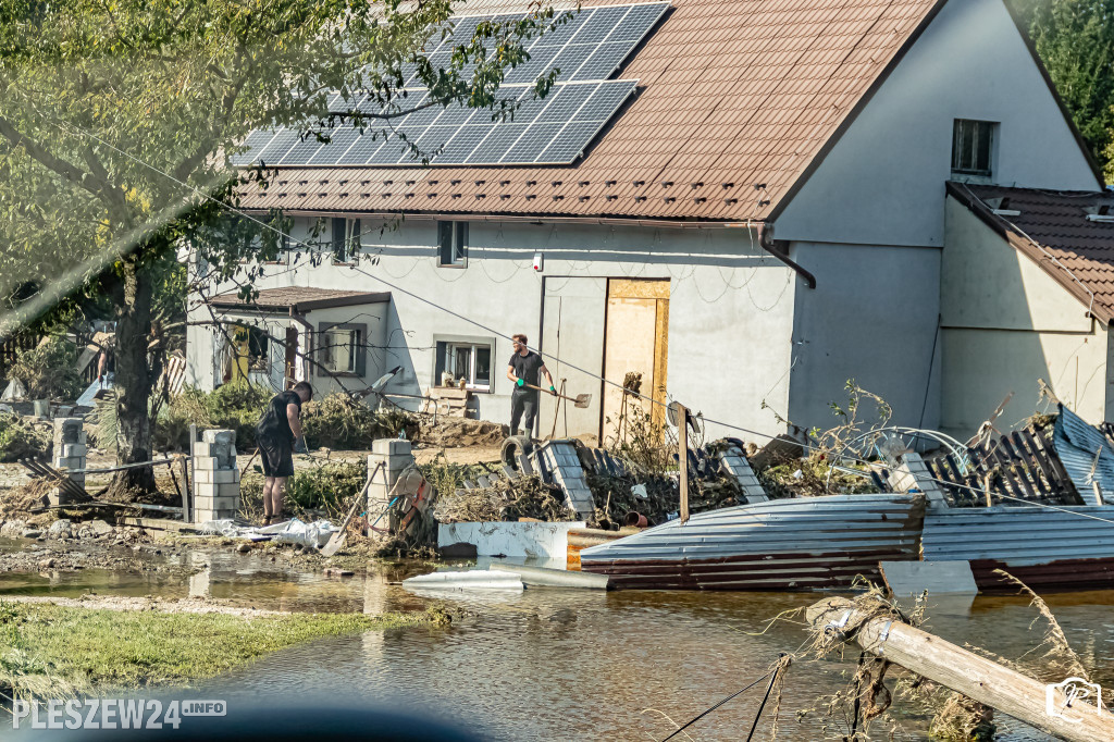
[[[866,617],[851,601],[832,597],[805,612],[817,631],[837,633],[856,627]],[[940,683],[1004,714],[1069,742],[1114,740],[1114,713],[1076,699],[1065,709],[1063,690],[1052,692],[1054,713],[1047,713],[1048,686],[985,657],[898,621],[876,617],[854,633],[867,652],[883,656],[918,675]]]

